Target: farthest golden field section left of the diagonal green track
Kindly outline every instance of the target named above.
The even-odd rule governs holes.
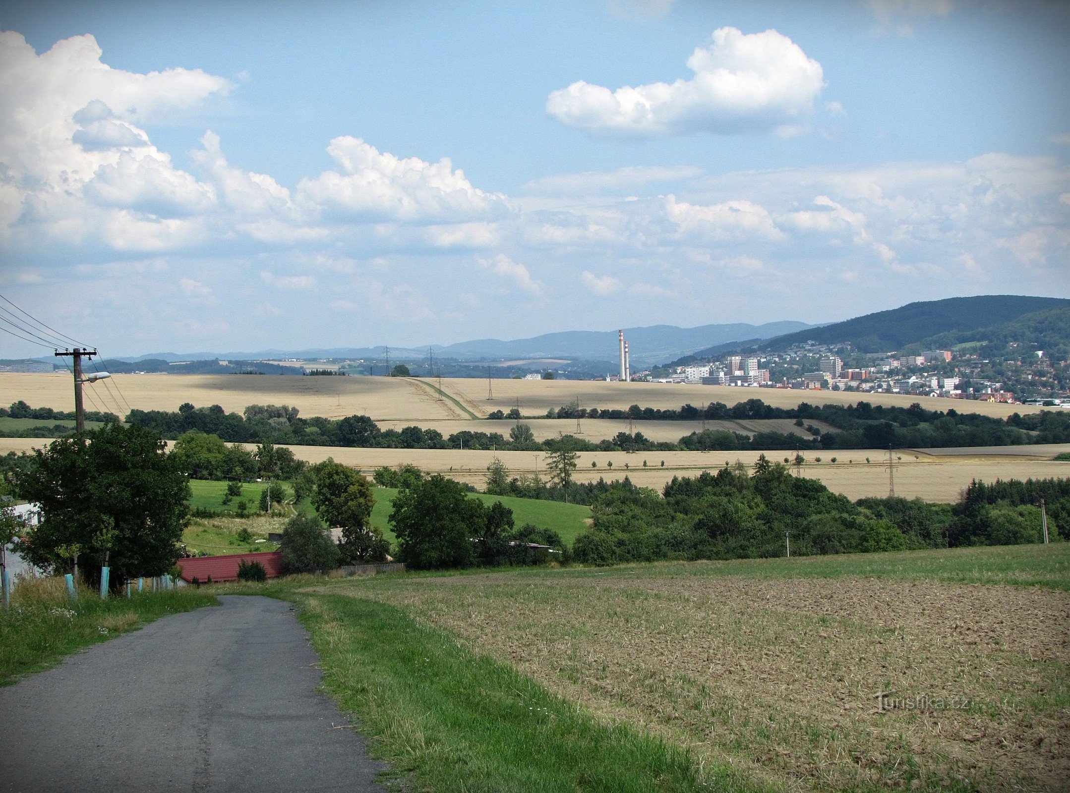
[[[86,386],[98,405],[113,406],[104,383]],[[363,413],[372,418],[410,422],[464,418],[463,412],[425,383],[409,378],[296,377],[269,375],[116,375],[132,408],[178,410],[183,402],[198,408],[220,405],[241,413],[249,405],[289,405],[303,416],[341,416]],[[19,399],[34,408],[74,409],[74,386],[67,373],[0,372],[0,405]],[[87,397],[86,409],[94,410]],[[106,408],[105,408],[106,409]],[[116,408],[111,407],[114,411]]]

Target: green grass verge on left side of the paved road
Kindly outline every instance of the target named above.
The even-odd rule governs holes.
[[[62,578],[22,582],[15,588],[11,610],[0,610],[0,685],[160,616],[216,603],[214,595],[189,588],[107,600],[82,588],[78,601],[71,604]]]

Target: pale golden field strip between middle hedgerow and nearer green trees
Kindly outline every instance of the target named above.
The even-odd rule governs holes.
[[[311,379],[311,378],[309,378]],[[340,379],[340,378],[339,378]],[[41,438],[0,438],[0,453],[25,452],[49,443]],[[343,448],[339,446],[290,446],[303,460],[321,462],[333,458],[336,462],[352,466],[366,473],[380,466],[395,467],[412,463],[431,473],[441,473],[459,482],[482,487],[487,466],[495,457],[501,459],[513,475],[546,475],[546,455],[541,452],[472,452],[460,449],[403,449],[403,448]],[[1002,446],[1010,451],[1012,446]],[[1019,447],[1028,448],[1028,447]],[[1070,451],[1070,444],[1058,446]],[[641,487],[660,490],[673,476],[697,476],[703,471],[716,471],[725,462],[736,460],[753,466],[759,455],[773,460],[783,460],[795,455],[794,449],[776,452],[581,452],[575,477],[578,482],[595,482],[599,477],[622,479],[628,476]],[[888,451],[849,449],[807,453],[808,462],[801,474],[821,479],[830,490],[851,499],[888,494]],[[941,457],[921,451],[896,452],[896,494],[907,499],[952,502],[973,479],[1027,479],[1070,477],[1070,462],[1049,459],[1029,459],[1022,455],[992,457]],[[836,457],[837,461],[831,462]],[[869,458],[869,462],[867,462]],[[664,460],[664,466],[661,461]],[[646,466],[643,466],[643,462]],[[609,463],[613,466],[610,467]],[[592,466],[592,463],[595,463]],[[793,469],[794,470],[794,469]]]

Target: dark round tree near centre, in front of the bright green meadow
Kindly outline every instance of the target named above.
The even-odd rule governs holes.
[[[475,563],[472,538],[482,535],[487,519],[483,502],[468,498],[463,485],[434,474],[397,494],[389,520],[402,562],[441,569]]]

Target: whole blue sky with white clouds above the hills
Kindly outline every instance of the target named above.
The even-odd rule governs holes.
[[[0,293],[107,355],[1070,298],[1068,3],[0,2]]]

